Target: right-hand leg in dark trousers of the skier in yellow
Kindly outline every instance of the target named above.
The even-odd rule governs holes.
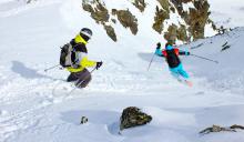
[[[79,80],[75,83],[78,88],[85,88],[89,82],[91,81],[91,73],[84,69],[83,71],[79,72]]]

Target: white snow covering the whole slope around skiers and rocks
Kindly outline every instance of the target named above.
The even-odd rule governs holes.
[[[182,57],[194,84],[190,88],[172,78],[161,58],[146,70],[162,37],[146,28],[134,37],[118,26],[122,40],[114,43],[80,2],[0,2],[1,142],[244,141],[241,130],[199,134],[212,124],[244,125],[244,28],[180,47],[220,62]],[[94,32],[90,59],[104,64],[88,88],[68,94],[73,89],[63,81],[69,72],[43,70],[59,63],[59,47],[82,27]],[[226,41],[231,48],[221,51]],[[141,108],[152,122],[119,134],[126,106]],[[81,116],[89,122],[80,124]]]

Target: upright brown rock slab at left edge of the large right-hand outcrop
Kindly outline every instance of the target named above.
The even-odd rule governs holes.
[[[154,23],[153,23],[153,29],[155,31],[157,31],[160,34],[163,31],[163,22],[164,20],[170,19],[170,14],[169,12],[166,12],[163,9],[160,9],[159,7],[156,7],[156,12],[155,12],[155,17],[154,17]]]

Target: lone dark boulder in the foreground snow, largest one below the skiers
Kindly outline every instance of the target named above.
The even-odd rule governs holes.
[[[130,106],[123,110],[120,121],[120,130],[124,130],[144,125],[152,121],[152,116],[141,112],[141,110],[135,106]]]

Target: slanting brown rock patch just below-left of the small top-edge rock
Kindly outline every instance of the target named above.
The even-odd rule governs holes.
[[[129,10],[113,10],[124,28],[130,28],[133,34],[138,33],[138,19]]]

